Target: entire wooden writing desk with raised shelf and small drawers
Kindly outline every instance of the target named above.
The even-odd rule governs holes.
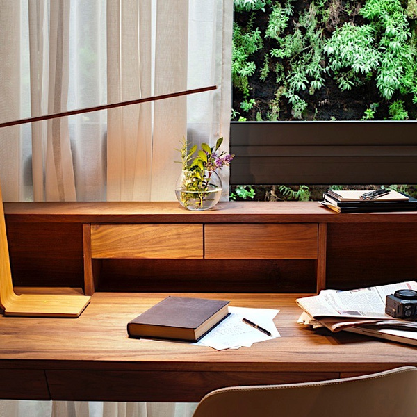
[[[279,293],[416,279],[417,213],[338,215],[314,202],[227,203],[204,213],[176,203],[4,207],[13,284],[83,286],[92,299],[79,318],[0,316],[1,398],[199,401],[221,386],[417,366],[415,347],[297,325],[300,295]],[[304,272],[306,283],[296,278]],[[127,337],[129,320],[186,291],[280,309],[282,337],[224,352]]]

